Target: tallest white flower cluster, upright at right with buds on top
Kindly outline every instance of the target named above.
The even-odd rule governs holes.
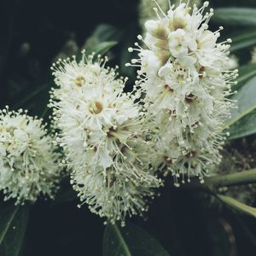
[[[138,43],[129,49],[138,51],[127,66],[140,67],[137,90],[146,94],[145,108],[154,115],[160,169],[171,172],[177,186],[191,176],[203,182],[220,162],[224,120],[232,107],[227,96],[237,70],[225,68],[231,40],[217,43],[223,27],[208,30],[208,4],[172,5],[167,14],[157,4],[157,20],[146,21],[145,38],[138,36],[147,49]]]

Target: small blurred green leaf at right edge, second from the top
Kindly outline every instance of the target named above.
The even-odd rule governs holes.
[[[256,44],[256,32],[254,30],[246,30],[239,34],[231,35],[230,38],[232,39],[230,51],[247,48]]]

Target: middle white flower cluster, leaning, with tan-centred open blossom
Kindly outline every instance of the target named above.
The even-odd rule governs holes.
[[[147,210],[160,180],[135,96],[123,91],[125,81],[105,67],[107,59],[94,58],[83,52],[79,62],[73,57],[53,65],[58,87],[49,107],[80,200],[91,212],[124,224],[126,215]]]

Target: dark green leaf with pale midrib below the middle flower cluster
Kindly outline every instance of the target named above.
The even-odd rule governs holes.
[[[124,228],[108,224],[103,237],[103,256],[170,256],[148,233],[134,224]]]

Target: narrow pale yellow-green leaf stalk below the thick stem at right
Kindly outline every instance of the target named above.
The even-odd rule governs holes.
[[[250,215],[250,216],[253,216],[254,218],[256,218],[256,208],[249,207],[228,195],[216,195],[216,196],[219,201],[223,201],[225,204],[234,208],[236,211],[245,213],[247,215]]]

